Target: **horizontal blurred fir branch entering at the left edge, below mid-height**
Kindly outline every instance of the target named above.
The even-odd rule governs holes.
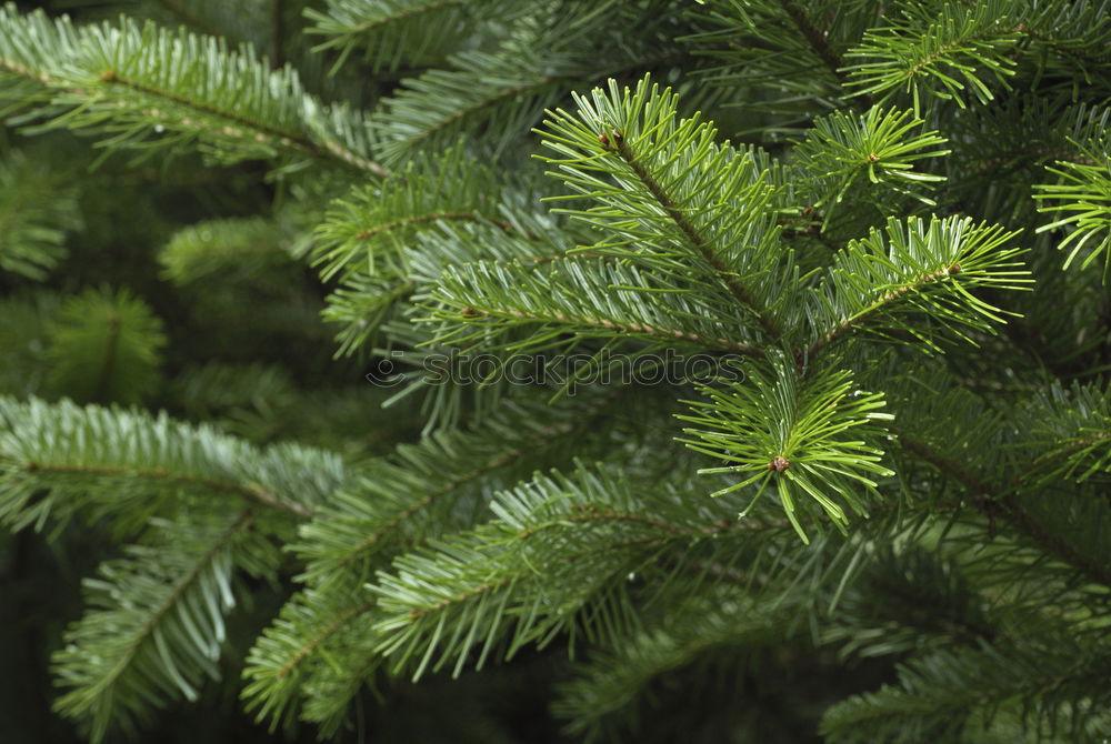
[[[290,469],[297,461],[301,472]],[[14,529],[109,512],[127,532],[188,496],[306,516],[342,479],[339,460],[320,451],[258,451],[164,414],[33,399],[0,401],[0,517]]]

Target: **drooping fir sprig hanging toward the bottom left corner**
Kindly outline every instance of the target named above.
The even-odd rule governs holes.
[[[233,569],[270,572],[280,555],[252,537],[253,522],[246,511],[219,529],[162,524],[157,547],[134,545],[103,565],[101,579],[87,582],[96,610],[70,627],[54,655],[68,688],[56,710],[91,718],[91,738],[100,742],[110,726],[133,730],[167,697],[196,700],[201,678],[218,676]]]

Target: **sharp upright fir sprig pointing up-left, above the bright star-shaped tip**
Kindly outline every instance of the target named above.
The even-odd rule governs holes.
[[[564,182],[598,204],[567,211],[612,234],[593,250],[667,272],[677,283],[684,277],[707,290],[722,288],[778,344],[784,331],[772,302],[790,301],[783,292],[793,268],[775,250],[771,188],[757,170],[758,155],[718,145],[713,129],[697,118],[677,121],[675,97],[649,78],[635,91],[610,80],[608,94],[595,89],[575,102],[577,118],[552,112],[544,144],[560,154],[547,160]],[[698,273],[677,251],[697,260]]]

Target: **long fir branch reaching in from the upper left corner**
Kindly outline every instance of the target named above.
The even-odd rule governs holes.
[[[40,128],[103,133],[111,148],[198,141],[230,162],[287,152],[389,175],[366,155],[358,117],[323,109],[292,69],[270,71],[250,48],[230,51],[222,40],[126,19],[119,28],[74,28],[41,11],[20,16],[11,4],[0,10],[0,28],[8,40],[0,69],[50,93]]]

